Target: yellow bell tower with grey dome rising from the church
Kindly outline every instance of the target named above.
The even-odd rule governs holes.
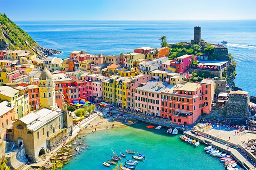
[[[40,93],[40,106],[39,108],[49,108],[51,110],[57,109],[55,102],[55,83],[53,76],[49,70],[44,68],[39,77],[39,93]]]

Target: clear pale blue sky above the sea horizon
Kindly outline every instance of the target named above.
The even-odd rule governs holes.
[[[255,20],[256,0],[0,0],[14,21]]]

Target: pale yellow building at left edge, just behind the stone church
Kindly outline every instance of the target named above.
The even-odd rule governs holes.
[[[12,103],[12,107],[15,108],[15,119],[20,119],[25,115],[24,95],[20,95],[20,91],[9,86],[0,86],[0,99]]]

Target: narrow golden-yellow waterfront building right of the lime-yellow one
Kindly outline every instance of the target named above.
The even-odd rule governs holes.
[[[126,102],[126,84],[130,82],[130,77],[120,77],[116,79],[116,106],[125,108],[127,107]]]

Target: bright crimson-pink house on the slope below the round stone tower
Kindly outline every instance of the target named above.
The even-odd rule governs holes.
[[[192,55],[183,55],[180,57],[177,57],[177,61],[175,62],[176,66],[176,73],[184,73],[187,71],[192,63]],[[197,60],[197,57],[195,56],[194,61]]]

